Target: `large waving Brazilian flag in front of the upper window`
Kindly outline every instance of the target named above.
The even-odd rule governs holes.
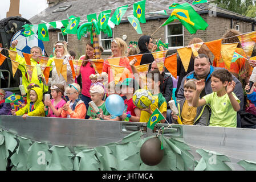
[[[204,19],[189,5],[189,3],[183,3],[179,9],[174,9],[170,17],[166,20],[162,26],[173,22],[175,19],[180,20],[184,27],[190,32],[195,34],[197,30],[205,30],[208,24]]]

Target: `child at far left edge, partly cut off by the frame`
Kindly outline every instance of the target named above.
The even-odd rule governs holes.
[[[13,93],[0,89],[0,115],[11,115],[11,104],[5,103],[5,99],[11,94]]]

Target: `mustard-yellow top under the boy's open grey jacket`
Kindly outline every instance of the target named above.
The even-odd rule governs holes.
[[[196,115],[197,107],[189,106],[188,101],[186,100],[181,111],[182,123],[184,125],[193,125]]]

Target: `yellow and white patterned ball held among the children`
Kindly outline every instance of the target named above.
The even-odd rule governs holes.
[[[133,104],[140,109],[148,108],[152,104],[152,99],[152,94],[145,89],[136,90],[132,97]]]

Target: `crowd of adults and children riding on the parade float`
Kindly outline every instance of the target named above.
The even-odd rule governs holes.
[[[241,33],[236,30],[228,30],[224,35],[223,43],[239,42],[235,37],[239,34]],[[201,42],[204,41],[193,38],[189,45]],[[14,40],[10,49],[15,51],[17,44],[18,41]],[[51,77],[47,84],[43,75],[38,77],[36,69],[29,81],[26,61],[17,55],[18,69],[22,72],[22,84],[27,93],[23,96],[25,104],[22,109],[11,109],[10,104],[3,102],[11,93],[0,89],[0,114],[22,115],[24,119],[29,116],[41,116],[148,122],[153,111],[159,109],[165,118],[162,119],[162,123],[177,123],[177,119],[181,119],[184,125],[255,128],[256,123],[245,121],[246,118],[243,117],[245,114],[251,114],[256,118],[256,92],[254,86],[249,88],[249,77],[256,65],[254,60],[239,58],[230,69],[227,69],[226,65],[222,64],[223,61],[210,60],[210,50],[203,44],[198,50],[198,56],[192,54],[188,70],[185,71],[177,54],[178,81],[176,93],[173,94],[173,77],[166,73],[165,69],[159,70],[157,67],[152,55],[157,46],[151,36],[141,36],[138,46],[129,46],[129,49],[123,39],[112,40],[112,56],[109,58],[121,57],[119,65],[133,73],[133,77],[125,78],[118,84],[115,84],[113,69],[108,60],[103,64],[100,78],[96,80],[91,78],[91,75],[96,74],[92,63],[87,61],[94,59],[94,46],[91,42],[86,44],[85,55],[79,58],[83,60],[80,68],[82,80],[79,77],[74,80],[72,77],[70,60],[75,59],[74,51],[68,51],[65,42],[56,42],[54,47],[54,57],[47,63],[47,66],[51,67]],[[100,55],[103,51],[100,47]],[[127,57],[138,52],[143,54],[140,65],[150,64],[145,79],[135,76],[139,75],[135,67],[136,58],[130,61]],[[238,45],[235,52],[242,55],[242,48]],[[32,47],[31,54],[31,65],[40,64],[38,56],[42,56],[42,50],[39,47]],[[62,64],[67,65],[67,80],[58,74],[55,58],[63,59]],[[140,88],[148,89],[153,97],[152,104],[145,109],[139,109],[132,101],[133,93]],[[245,92],[245,89],[250,91]],[[43,101],[43,94],[47,92],[51,94],[52,99]],[[111,94],[118,94],[124,99],[123,114],[112,115],[106,109],[105,100]],[[168,105],[174,97],[177,97],[177,115],[173,114]],[[96,113],[90,105],[91,101],[99,108],[99,112]]]

